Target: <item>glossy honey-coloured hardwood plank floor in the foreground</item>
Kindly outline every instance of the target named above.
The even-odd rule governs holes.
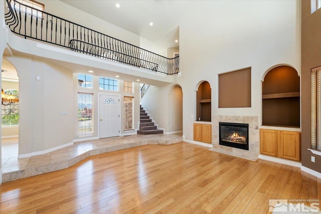
[[[320,200],[321,179],[177,143],[91,156],[4,183],[0,213],[267,213],[269,199]]]

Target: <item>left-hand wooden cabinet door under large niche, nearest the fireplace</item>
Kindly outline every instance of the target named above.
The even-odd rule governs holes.
[[[260,153],[277,156],[277,131],[269,129],[260,130]]]

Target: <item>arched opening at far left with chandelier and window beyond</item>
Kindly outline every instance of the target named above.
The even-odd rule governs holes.
[[[19,155],[19,77],[14,65],[6,58],[2,63],[2,89],[6,95],[14,95],[10,103],[2,103],[2,162]]]

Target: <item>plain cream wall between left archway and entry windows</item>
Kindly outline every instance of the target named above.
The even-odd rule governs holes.
[[[32,57],[6,58],[20,77],[19,155],[72,143],[72,73]]]

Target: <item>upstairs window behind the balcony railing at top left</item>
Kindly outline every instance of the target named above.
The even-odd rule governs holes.
[[[15,4],[15,1],[20,4],[26,5],[27,7],[17,3]],[[45,11],[44,4],[41,4],[34,0],[15,0],[15,1],[10,2],[11,7],[15,8],[16,11],[20,11],[22,15],[26,14],[28,16],[33,16],[34,18],[43,19],[43,13],[41,13],[40,11]]]

